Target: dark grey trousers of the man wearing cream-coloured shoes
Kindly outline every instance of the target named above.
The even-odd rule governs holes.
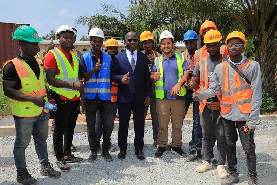
[[[226,162],[226,141],[224,137],[222,119],[219,119],[220,110],[210,110],[205,106],[203,113],[200,114],[200,125],[202,128],[202,148],[204,160],[211,163],[213,136],[217,140],[217,152],[219,153],[219,164],[224,165]]]

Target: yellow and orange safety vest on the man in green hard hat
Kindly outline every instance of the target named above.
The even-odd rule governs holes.
[[[21,81],[21,89],[19,89],[19,91],[21,91],[21,93],[24,93],[25,95],[33,97],[46,95],[43,75],[43,63],[38,59],[36,60],[39,65],[38,80],[34,71],[24,60],[20,60],[18,58],[14,58],[13,60],[11,60]],[[47,102],[47,96],[44,97],[44,99]],[[10,102],[12,114],[19,117],[35,117],[40,115],[43,110],[42,107],[35,105],[31,101],[18,101],[10,99]],[[48,113],[49,110],[44,110],[44,112]]]

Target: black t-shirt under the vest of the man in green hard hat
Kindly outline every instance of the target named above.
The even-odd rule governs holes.
[[[30,68],[34,71],[37,80],[39,79],[40,66],[37,63],[35,58],[31,61],[28,61],[28,60],[22,58],[19,54],[17,55],[16,58],[24,60],[30,66]],[[13,81],[13,80],[17,81],[17,83],[15,85],[15,89],[16,90],[21,89],[21,81],[19,79],[19,76],[17,74],[15,66],[12,62],[9,62],[4,67],[2,81]]]

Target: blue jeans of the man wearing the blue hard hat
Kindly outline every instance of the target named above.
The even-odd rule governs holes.
[[[193,93],[193,90],[186,90],[186,95],[185,95],[185,109],[186,109],[186,114],[189,109],[189,105],[191,102],[193,102],[193,126],[192,126],[192,140],[194,140],[194,147],[196,149],[201,150],[202,149],[202,129],[200,126],[200,118],[199,118],[199,101],[194,101],[191,98],[191,95]],[[186,115],[185,115],[186,116]]]

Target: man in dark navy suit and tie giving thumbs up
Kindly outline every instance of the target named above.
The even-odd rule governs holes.
[[[111,77],[118,86],[118,113],[120,116],[118,131],[118,159],[125,159],[127,136],[131,111],[133,109],[135,131],[135,154],[144,160],[144,109],[152,100],[152,86],[148,69],[147,56],[137,50],[137,35],[128,32],[125,35],[126,50],[115,55]]]

